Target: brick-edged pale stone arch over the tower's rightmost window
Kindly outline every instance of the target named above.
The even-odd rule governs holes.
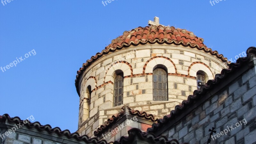
[[[196,61],[193,62],[189,67],[188,67],[188,76],[194,76],[196,77],[196,73],[202,70],[204,71],[208,77],[206,77],[206,79],[214,79],[212,70],[209,66],[207,66],[205,63],[200,62],[200,61]]]

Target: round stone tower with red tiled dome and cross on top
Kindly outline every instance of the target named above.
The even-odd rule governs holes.
[[[157,17],[148,24],[124,31],[77,71],[79,134],[103,139],[101,134],[124,113],[120,111],[124,106],[138,114],[143,111],[140,118],[144,112],[163,118],[228,68],[227,59],[192,32],[163,26]],[[135,115],[128,109],[125,113]],[[144,128],[155,122],[143,119]],[[119,138],[115,135],[106,140]]]

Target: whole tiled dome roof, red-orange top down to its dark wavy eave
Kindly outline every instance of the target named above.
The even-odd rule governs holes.
[[[95,56],[92,56],[90,60],[87,60],[83,63],[82,68],[77,71],[75,85],[76,91],[79,94],[79,78],[84,72],[84,70],[89,67],[94,61],[99,59],[104,54],[109,52],[114,52],[120,50],[124,47],[129,47],[131,45],[137,46],[139,44],[175,44],[189,46],[191,48],[197,48],[198,50],[204,50],[204,52],[210,52],[213,56],[216,56],[218,59],[223,62],[228,62],[228,59],[225,58],[222,54],[219,54],[217,51],[212,51],[211,48],[208,48],[203,44],[204,39],[199,38],[194,35],[193,32],[190,32],[186,29],[168,27],[168,26],[147,26],[147,27],[138,27],[132,29],[131,31],[124,31],[122,36],[117,37],[112,40],[112,43],[105,47],[104,50],[98,52]]]

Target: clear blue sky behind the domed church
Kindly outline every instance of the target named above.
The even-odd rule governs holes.
[[[108,42],[155,16],[184,28],[228,59],[256,46],[256,1],[13,0],[0,3],[0,115],[77,130],[76,71]],[[36,54],[33,55],[33,52]]]

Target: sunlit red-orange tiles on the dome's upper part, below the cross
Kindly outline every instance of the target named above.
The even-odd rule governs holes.
[[[138,44],[138,43],[154,43],[155,41],[163,43],[179,43],[182,42],[185,45],[189,43],[191,45],[197,44],[199,47],[206,47],[203,42],[203,38],[195,36],[192,32],[185,29],[174,28],[174,27],[163,27],[163,26],[148,26],[145,28],[139,27],[132,29],[131,31],[125,31],[122,36],[117,37],[112,40],[108,48],[121,47],[122,44]]]

